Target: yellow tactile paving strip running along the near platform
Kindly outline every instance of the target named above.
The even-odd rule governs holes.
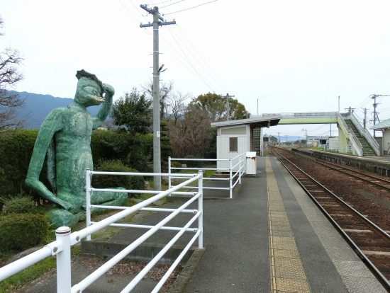
[[[271,264],[271,292],[310,293],[305,270],[294,234],[284,208],[271,161],[265,159],[267,173],[269,258]]]

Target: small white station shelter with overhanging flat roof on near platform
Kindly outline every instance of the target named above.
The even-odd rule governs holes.
[[[248,151],[262,154],[262,127],[276,126],[280,119],[272,115],[211,123],[211,127],[217,127],[217,159],[234,158]],[[228,161],[217,161],[217,168],[229,168]]]

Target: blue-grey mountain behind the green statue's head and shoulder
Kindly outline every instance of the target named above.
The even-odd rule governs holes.
[[[11,92],[18,94],[21,99],[25,100],[23,108],[18,108],[16,115],[18,120],[25,120],[25,128],[29,129],[38,129],[51,110],[67,107],[73,100],[72,98],[56,98],[50,95],[27,93],[26,91]],[[91,115],[95,116],[98,113],[99,106],[93,106],[87,109]]]

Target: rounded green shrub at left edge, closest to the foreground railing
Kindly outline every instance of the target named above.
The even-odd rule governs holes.
[[[0,253],[23,251],[41,243],[48,219],[41,214],[7,214],[0,217]]]

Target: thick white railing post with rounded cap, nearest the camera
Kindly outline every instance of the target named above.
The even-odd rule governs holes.
[[[57,253],[57,293],[70,293],[72,289],[70,231],[67,226],[55,230],[55,238],[62,246],[62,251]]]

